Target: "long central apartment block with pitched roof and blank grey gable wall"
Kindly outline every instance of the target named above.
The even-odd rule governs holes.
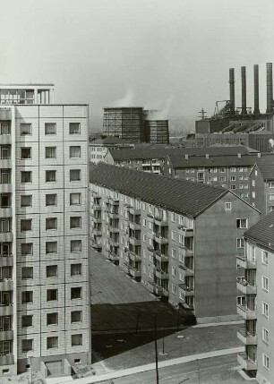
[[[99,163],[91,245],[199,322],[235,320],[236,250],[260,212],[234,192]]]

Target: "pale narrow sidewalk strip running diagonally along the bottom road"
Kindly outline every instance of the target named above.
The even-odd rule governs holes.
[[[190,356],[178,357],[176,359],[167,360],[166,362],[160,362],[158,363],[158,368],[169,367],[169,366],[177,365],[181,363],[189,363],[195,360],[208,359],[210,357],[215,357],[215,356],[223,356],[226,354],[237,354],[243,351],[244,351],[244,346],[241,346],[241,347],[235,347],[235,348],[229,348],[229,349],[222,349],[219,351],[207,352],[205,354],[192,354]],[[155,370],[155,363],[141,365],[139,367],[129,368],[123,371],[111,371],[109,373],[101,374],[98,376],[90,376],[82,379],[76,379],[76,380],[73,380],[73,384],[98,383],[105,380],[112,380],[112,379],[117,379],[124,376],[133,375],[134,373],[140,373],[140,372],[152,371],[152,370]],[[51,384],[51,381],[47,380],[47,383]],[[64,381],[64,384],[72,384],[72,382]]]

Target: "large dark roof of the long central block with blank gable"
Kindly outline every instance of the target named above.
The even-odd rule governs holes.
[[[105,163],[99,163],[90,170],[90,183],[97,183],[188,217],[197,216],[228,192],[220,187]]]

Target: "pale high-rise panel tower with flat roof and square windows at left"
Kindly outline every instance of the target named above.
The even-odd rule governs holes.
[[[87,105],[0,85],[0,376],[90,363]]]

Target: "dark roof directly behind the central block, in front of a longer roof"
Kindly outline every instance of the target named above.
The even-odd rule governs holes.
[[[184,155],[169,154],[168,158],[174,168],[191,168],[195,166],[214,167],[214,166],[253,166],[259,159],[257,155],[246,155],[238,158],[237,156],[190,156],[188,159]]]

